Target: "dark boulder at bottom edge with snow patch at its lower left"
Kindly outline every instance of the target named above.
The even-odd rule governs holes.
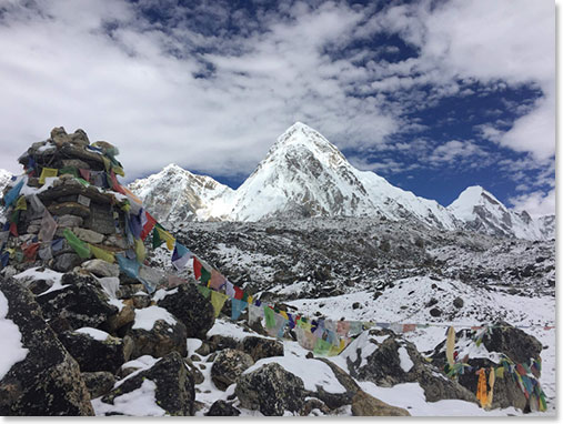
[[[115,401],[127,403],[130,394],[140,390],[144,381],[151,381],[157,404],[170,415],[193,415],[195,390],[193,378],[178,352],[171,352],[149,370],[141,371],[122,382],[101,398],[102,403],[114,405]],[[121,398],[119,398],[121,397]],[[131,398],[131,397],[129,397]],[[132,402],[134,402],[132,396]]]

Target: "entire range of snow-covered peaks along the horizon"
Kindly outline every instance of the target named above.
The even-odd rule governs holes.
[[[482,188],[466,189],[443,208],[373,172],[359,171],[336,147],[301,122],[278,138],[257,170],[234,191],[175,165],[134,181],[130,189],[170,226],[185,221],[364,216],[529,240],[551,235],[544,221],[510,211]]]

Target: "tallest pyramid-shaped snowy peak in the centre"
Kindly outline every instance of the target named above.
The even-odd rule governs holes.
[[[453,229],[455,220],[434,201],[416,198],[373,172],[353,168],[324,137],[303,123],[288,129],[237,190],[230,219],[272,216],[415,218]]]

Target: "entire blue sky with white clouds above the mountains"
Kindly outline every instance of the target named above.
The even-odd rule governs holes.
[[[301,121],[448,205],[480,184],[555,210],[550,1],[14,1],[0,6],[0,168],[51,128],[240,184]]]

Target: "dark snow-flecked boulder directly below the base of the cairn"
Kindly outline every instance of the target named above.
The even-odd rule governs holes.
[[[118,309],[108,303],[107,295],[94,285],[92,276],[68,273],[62,275],[61,283],[67,286],[37,296],[46,319],[66,319],[72,330],[95,329],[118,313]]]

